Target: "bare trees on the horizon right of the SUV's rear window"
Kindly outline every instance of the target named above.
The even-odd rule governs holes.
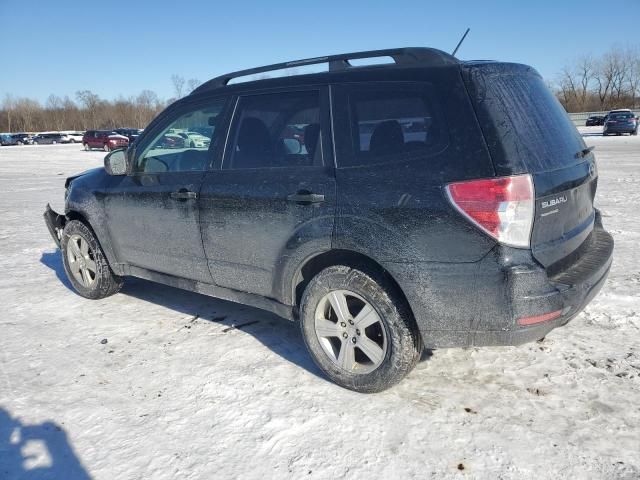
[[[613,47],[600,56],[583,55],[565,65],[555,83],[567,112],[640,107],[640,49]]]

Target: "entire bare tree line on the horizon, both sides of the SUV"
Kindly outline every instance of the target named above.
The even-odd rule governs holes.
[[[44,105],[7,94],[0,103],[0,132],[144,128],[173,101],[200,85],[197,79],[171,76],[173,98],[151,90],[105,100],[90,90],[75,98],[50,95]],[[600,56],[583,55],[560,71],[550,87],[568,112],[640,108],[640,49],[613,47]]]

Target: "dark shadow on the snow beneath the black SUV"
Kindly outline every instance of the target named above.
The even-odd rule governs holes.
[[[40,262],[53,270],[60,282],[77,295],[64,271],[60,250],[43,252]],[[194,321],[207,321],[220,325],[221,335],[237,330],[250,334],[289,362],[325,378],[311,360],[297,323],[273,313],[134,277],[127,277],[120,294],[162,305],[189,317],[190,322],[183,328],[191,329]]]

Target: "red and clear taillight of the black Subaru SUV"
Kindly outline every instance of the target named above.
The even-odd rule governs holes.
[[[498,242],[528,248],[535,192],[531,175],[514,175],[450,183],[453,206]]]

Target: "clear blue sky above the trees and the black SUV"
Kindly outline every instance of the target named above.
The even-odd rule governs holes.
[[[640,0],[40,1],[0,0],[0,100],[88,89],[103,98],[298,58],[398,46],[536,67],[638,45]]]

